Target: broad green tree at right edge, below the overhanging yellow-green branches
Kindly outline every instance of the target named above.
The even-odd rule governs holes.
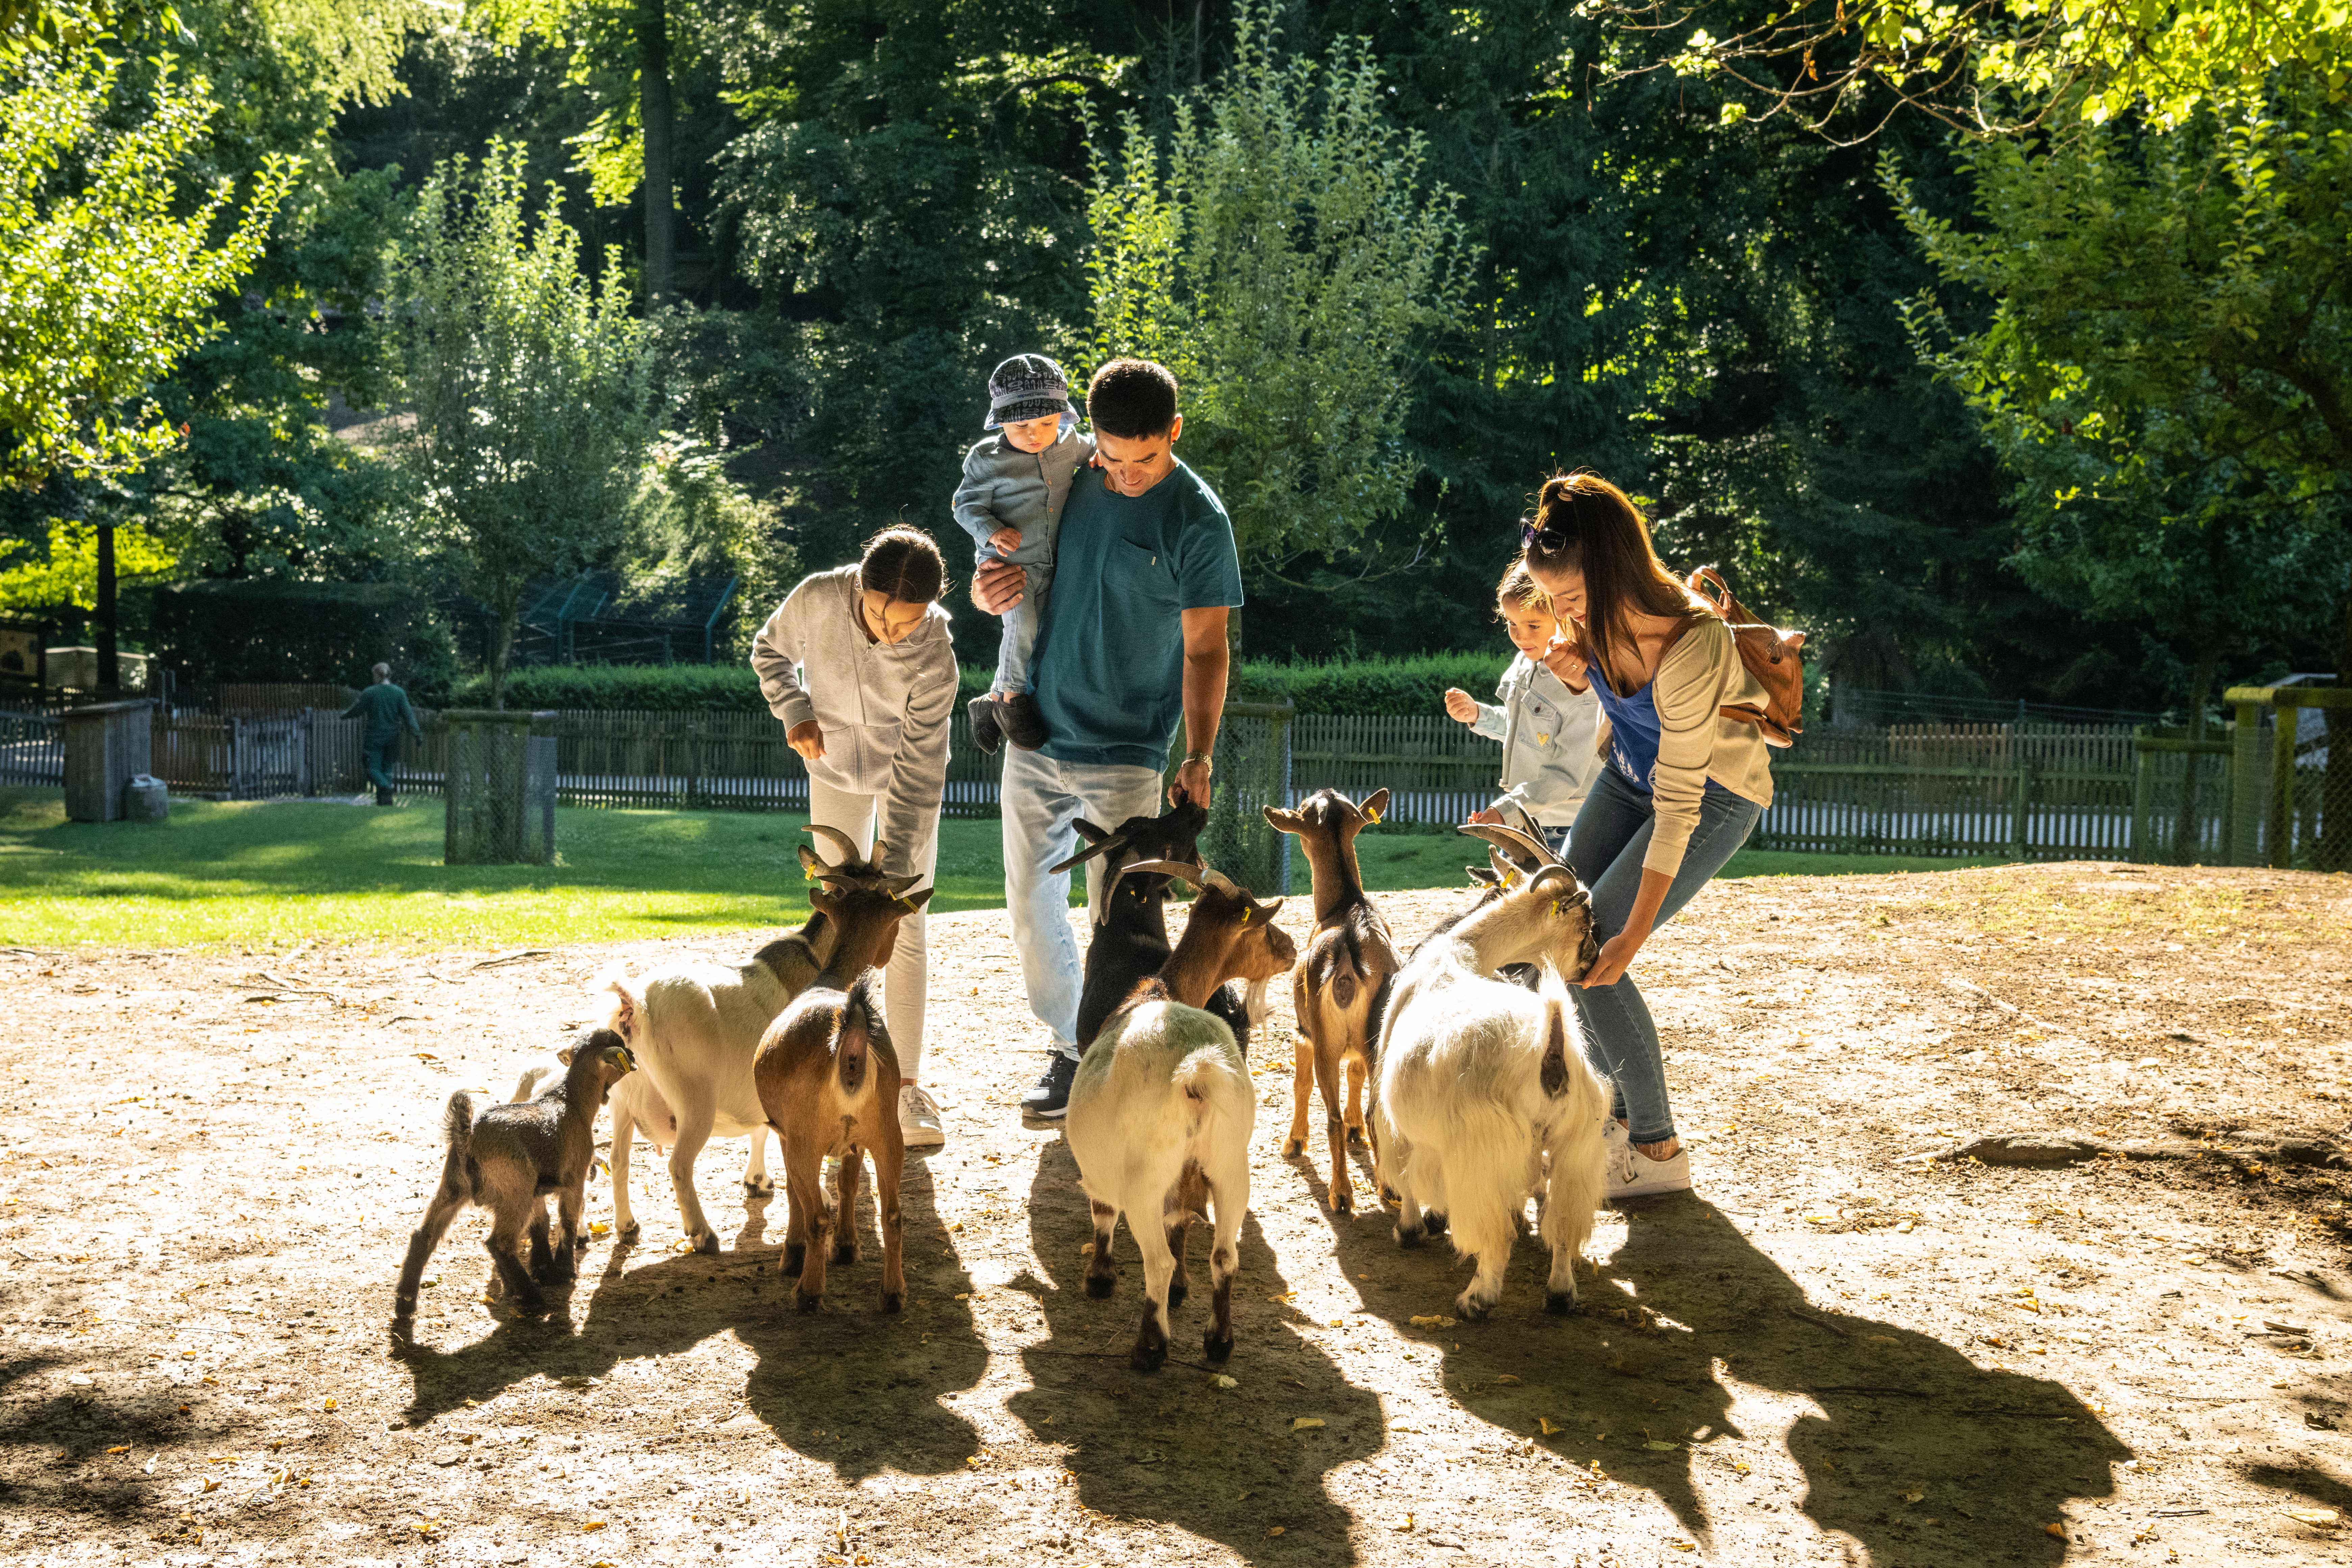
[[[2265,597],[2277,625],[2293,595],[2220,571],[2216,548],[2312,562],[2303,576],[2340,595],[2336,668],[2352,682],[2352,108],[2288,80],[2171,134],[2002,141],[1969,162],[1976,228],[1907,214],[1945,277],[1992,301],[1973,334],[1919,306],[1938,369],[2004,454],[2027,454],[2013,468],[2030,482],[2065,475],[2042,480],[2049,505],[2136,508],[2138,548],[2107,548],[2185,571],[2225,625],[2258,623]],[[2180,607],[2143,604],[2164,609]],[[2239,635],[2180,625],[2206,649]],[[2331,741],[2328,788],[2352,799],[2352,724],[2331,715]],[[2352,832],[2328,856],[2352,865]]]

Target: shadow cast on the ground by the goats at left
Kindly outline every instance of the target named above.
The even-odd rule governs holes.
[[[971,1291],[971,1276],[953,1248],[943,1260],[929,1251],[946,1229],[931,1173],[917,1159],[906,1164],[898,1204],[915,1248],[908,1309],[898,1316],[877,1309],[882,1241],[870,1180],[858,1194],[866,1253],[833,1267],[826,1305],[811,1314],[793,1309],[776,1241],[760,1244],[762,1234],[783,1237],[783,1199],[755,1197],[736,1251],[717,1258],[673,1253],[630,1267],[623,1244],[600,1272],[590,1253],[574,1291],[574,1309],[586,1298],[576,1328],[564,1312],[546,1321],[501,1319],[463,1349],[407,1352],[414,1378],[407,1418],[421,1425],[527,1378],[602,1378],[621,1361],[675,1356],[734,1333],[757,1356],[743,1399],[790,1450],[830,1465],[849,1483],[880,1469],[960,1469],[978,1453],[978,1432],[943,1396],[978,1385],[988,1368],[971,1307],[955,1300]],[[847,1420],[847,1410],[858,1418]]]

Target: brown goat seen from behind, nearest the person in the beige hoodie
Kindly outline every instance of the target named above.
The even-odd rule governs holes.
[[[826,1295],[826,1262],[858,1260],[856,1199],[866,1152],[875,1161],[882,1218],[882,1312],[906,1305],[906,1262],[898,1225],[898,1178],[906,1140],[898,1133],[898,1053],[882,1023],[882,969],[898,943],[898,922],[931,900],[931,889],[891,896],[884,889],[818,889],[809,893],[833,924],[826,971],[767,1027],[753,1058],[760,1107],[783,1152],[790,1222],[783,1272],[797,1274],[793,1300],[814,1312]],[[847,990],[844,990],[847,980]],[[823,1166],[837,1157],[837,1218],[826,1213]]]

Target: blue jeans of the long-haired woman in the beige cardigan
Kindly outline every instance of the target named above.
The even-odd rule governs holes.
[[[1682,870],[1665,889],[1658,907],[1658,924],[1670,922],[1682,905],[1708,886],[1715,872],[1724,870],[1748,835],[1755,830],[1764,806],[1733,795],[1712,778],[1698,802],[1698,827],[1682,851]],[[1635,790],[1616,769],[1602,769],[1599,783],[1585,797],[1585,809],[1576,813],[1576,832],[1569,835],[1569,870],[1592,891],[1592,933],[1609,940],[1625,929],[1632,900],[1642,891],[1642,856],[1649,853],[1649,837],[1656,820],[1656,804]],[[1637,959],[1639,961],[1639,959]],[[1665,1100],[1665,1058],[1658,1056],[1658,1025],[1651,1023],[1642,987],[1628,971],[1616,985],[1573,987],[1576,1013],[1585,1023],[1585,1039],[1592,1046],[1597,1072],[1606,1072],[1616,1084],[1616,1114],[1625,1119],[1625,1131],[1635,1143],[1665,1143],[1675,1135],[1675,1110]]]

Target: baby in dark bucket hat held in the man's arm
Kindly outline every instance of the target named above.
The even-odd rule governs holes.
[[[971,703],[971,738],[983,752],[1011,741],[1023,752],[1047,743],[1030,691],[1030,651],[1054,585],[1054,536],[1070,498],[1070,475],[1094,456],[1070,407],[1070,378],[1044,355],[1014,355],[988,376],[988,423],[995,430],[964,454],[955,487],[955,522],[978,545],[978,562],[1021,567],[1021,602],[1004,611],[997,677]]]

